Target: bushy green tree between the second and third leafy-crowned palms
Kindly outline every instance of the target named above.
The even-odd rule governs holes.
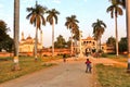
[[[54,42],[54,47],[55,48],[65,48],[66,47],[66,41],[65,41],[65,39],[63,38],[62,35],[60,35],[56,38],[56,41]]]

